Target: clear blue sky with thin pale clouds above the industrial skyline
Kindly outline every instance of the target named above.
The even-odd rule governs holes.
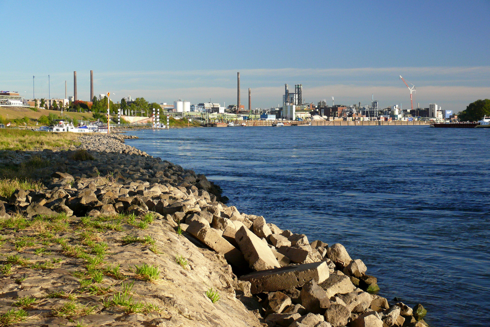
[[[282,101],[284,83],[303,98],[385,107],[415,102],[459,111],[490,98],[490,1],[1,1],[10,47],[0,89],[32,97],[94,92],[149,101]]]

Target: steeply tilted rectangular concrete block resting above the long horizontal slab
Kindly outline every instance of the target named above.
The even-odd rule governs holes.
[[[280,267],[267,244],[245,226],[240,227],[236,232],[235,240],[250,268],[260,271]]]

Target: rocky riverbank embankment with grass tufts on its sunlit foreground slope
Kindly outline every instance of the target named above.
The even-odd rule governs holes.
[[[205,176],[122,138],[42,151],[47,187],[1,199],[0,326],[426,326],[421,305],[366,292],[376,278],[341,244],[226,206]]]

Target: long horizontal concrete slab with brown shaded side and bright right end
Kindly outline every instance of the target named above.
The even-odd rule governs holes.
[[[250,292],[257,294],[303,286],[312,279],[317,283],[321,283],[328,276],[327,264],[325,262],[314,262],[254,272],[242,276],[240,279],[249,281],[252,284]]]

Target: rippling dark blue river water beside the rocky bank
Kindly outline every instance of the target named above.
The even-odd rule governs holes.
[[[127,144],[205,174],[241,212],[342,243],[379,295],[430,326],[489,326],[490,130],[294,126],[135,131]]]

